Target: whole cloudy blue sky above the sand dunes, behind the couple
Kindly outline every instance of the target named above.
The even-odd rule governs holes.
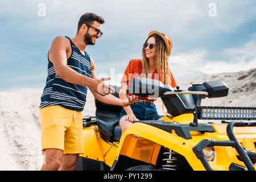
[[[38,15],[40,3],[45,16]],[[105,19],[104,35],[86,48],[98,77],[118,82],[129,60],[141,58],[151,30],[171,36],[169,64],[176,79],[256,67],[255,1],[1,0],[0,6],[0,90],[42,90],[52,40],[75,36],[85,12]]]

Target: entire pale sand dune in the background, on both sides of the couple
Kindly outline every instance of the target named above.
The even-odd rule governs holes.
[[[177,80],[180,89],[204,81],[224,80],[229,95],[205,99],[202,105],[256,107],[256,68],[237,73],[219,73]],[[0,170],[39,170],[43,163],[39,104],[40,92],[0,92]],[[159,114],[164,114],[162,101],[156,101]],[[94,98],[88,93],[83,115],[94,115]]]

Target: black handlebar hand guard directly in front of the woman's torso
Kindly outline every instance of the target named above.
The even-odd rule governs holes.
[[[158,98],[164,92],[174,91],[170,85],[164,85],[161,81],[150,78],[135,77],[127,89],[127,93],[140,97]]]

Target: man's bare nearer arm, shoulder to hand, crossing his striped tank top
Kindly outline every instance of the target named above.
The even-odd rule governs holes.
[[[67,65],[67,51],[70,49],[69,40],[64,36],[57,36],[49,49],[49,60],[53,63],[55,68],[56,75],[63,78],[63,80],[70,82],[72,84],[88,86],[90,89],[94,90],[105,96],[113,88],[109,88],[109,86],[105,85],[102,81],[109,80],[110,78],[101,78],[101,79],[93,79],[80,73],[76,72],[72,68],[69,68]],[[98,88],[98,84],[102,84],[101,87]]]

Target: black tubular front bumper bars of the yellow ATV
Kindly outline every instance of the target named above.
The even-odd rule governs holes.
[[[193,147],[193,152],[196,154],[197,158],[200,159],[204,168],[207,169],[208,171],[213,171],[213,168],[210,167],[207,159],[205,158],[205,154],[203,150],[205,147],[214,147],[214,146],[235,147],[238,154],[240,155],[242,162],[245,163],[245,166],[247,167],[247,169],[249,171],[255,171],[255,167],[251,160],[255,161],[256,152],[251,152],[241,145],[241,143],[238,141],[238,139],[234,135],[234,132],[233,132],[234,126],[239,126],[239,127],[256,126],[256,122],[243,122],[243,121],[229,122],[228,126],[226,127],[226,133],[228,134],[228,137],[230,140],[225,141],[225,140],[203,139],[195,147]],[[247,170],[246,168],[234,163],[230,164],[229,169],[230,170]]]

